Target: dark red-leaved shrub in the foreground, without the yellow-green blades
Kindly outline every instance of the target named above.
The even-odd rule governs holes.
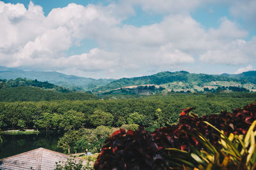
[[[116,131],[102,148],[95,169],[169,169],[169,163],[163,157],[170,154],[170,151],[164,148],[176,148],[188,153],[192,152],[191,148],[201,150],[204,145],[195,136],[189,135],[200,133],[212,146],[221,149],[220,136],[214,127],[223,131],[225,136],[231,133],[246,134],[256,120],[255,103],[243,109],[237,108],[232,113],[221,111],[220,115],[203,117],[189,113],[193,109],[182,110],[178,124],[154,132],[143,128],[138,131]],[[214,127],[205,124],[205,121]]]

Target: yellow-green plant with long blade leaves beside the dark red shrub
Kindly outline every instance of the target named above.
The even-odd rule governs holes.
[[[256,168],[256,150],[255,150],[255,129],[256,120],[252,123],[248,132],[244,135],[230,133],[227,137],[223,131],[220,131],[208,122],[204,122],[214,128],[219,135],[221,148],[214,147],[207,138],[199,132],[193,136],[198,143],[204,146],[204,150],[198,150],[190,145],[191,153],[178,150],[176,148],[167,148],[169,151],[167,161],[172,167],[177,169],[248,169]],[[171,169],[172,169],[171,167]]]

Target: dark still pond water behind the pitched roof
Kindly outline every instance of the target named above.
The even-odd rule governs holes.
[[[3,139],[3,143],[0,143],[0,159],[40,147],[62,152],[61,148],[57,148],[57,142],[61,136],[63,136],[63,134],[58,132],[50,132],[47,134],[2,134],[1,138]]]

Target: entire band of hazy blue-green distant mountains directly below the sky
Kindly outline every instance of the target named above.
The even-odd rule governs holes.
[[[27,78],[29,80],[48,81],[72,90],[92,91],[97,94],[154,94],[166,92],[204,92],[228,90],[233,87],[256,91],[256,71],[241,74],[195,74],[187,71],[161,72],[150,76],[134,78],[93,79],[58,72],[24,71],[0,67],[0,79]],[[230,88],[229,88],[230,90]],[[234,90],[234,88],[233,88]]]

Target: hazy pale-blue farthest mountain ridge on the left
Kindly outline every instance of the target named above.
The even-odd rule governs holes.
[[[80,76],[67,75],[56,71],[24,71],[0,66],[0,79],[27,78],[30,80],[48,81],[54,85],[60,85],[72,90],[88,91],[94,87],[110,83],[113,79],[93,79]]]

